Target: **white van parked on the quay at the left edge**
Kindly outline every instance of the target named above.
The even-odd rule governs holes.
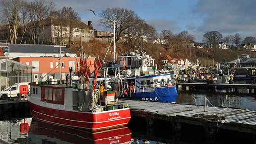
[[[18,82],[12,86],[9,86],[5,90],[0,91],[0,99],[8,99],[9,97],[18,97],[18,95],[20,94],[20,90],[19,90],[20,85],[27,85],[27,89],[29,89],[30,86],[28,84],[29,82]],[[22,94],[22,96],[23,95],[24,94]]]

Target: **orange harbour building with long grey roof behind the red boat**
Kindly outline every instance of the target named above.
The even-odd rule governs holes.
[[[80,58],[77,58],[77,54],[70,49],[54,45],[8,45],[3,52],[5,59],[10,58],[15,62],[33,67],[32,82],[47,81],[49,76],[58,81],[60,79],[65,81],[67,74],[70,75],[70,71],[73,78],[77,75],[77,64],[80,65]],[[86,59],[90,71],[93,72],[95,58],[87,57]],[[77,78],[78,76],[76,76]]]

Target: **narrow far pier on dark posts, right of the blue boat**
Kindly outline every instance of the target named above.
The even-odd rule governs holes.
[[[248,92],[256,94],[256,85],[250,84],[206,84],[206,83],[177,83],[177,90],[179,88],[186,90],[187,87],[189,90],[192,89],[205,89],[205,90],[216,90],[218,88],[226,90],[227,93],[238,92],[238,89],[247,89]]]

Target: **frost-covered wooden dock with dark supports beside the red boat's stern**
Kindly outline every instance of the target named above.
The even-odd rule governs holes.
[[[162,121],[169,123],[175,135],[180,135],[184,125],[201,127],[201,130],[205,131],[205,138],[209,141],[215,139],[215,134],[219,130],[237,131],[256,136],[256,110],[219,107],[206,107],[205,109],[204,106],[198,105],[129,99],[119,99],[119,101],[129,103],[132,118],[144,118],[149,130],[153,129],[155,121],[158,123]],[[213,120],[211,117],[193,117],[198,114],[206,116],[215,114],[218,117],[224,117],[224,119]]]

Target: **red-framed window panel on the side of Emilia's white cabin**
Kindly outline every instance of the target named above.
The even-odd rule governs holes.
[[[64,89],[56,87],[44,87],[42,101],[64,104]]]

